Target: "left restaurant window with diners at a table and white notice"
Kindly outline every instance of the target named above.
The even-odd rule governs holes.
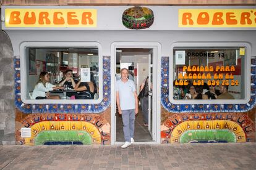
[[[98,46],[24,47],[21,83],[27,103],[95,103],[100,100]],[[22,63],[24,67],[22,67]],[[45,92],[44,92],[45,91]],[[53,99],[53,100],[51,100]]]

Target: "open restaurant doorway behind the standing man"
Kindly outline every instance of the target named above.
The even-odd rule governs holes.
[[[135,118],[135,142],[152,142],[153,126],[155,126],[155,116],[153,116],[153,49],[150,48],[116,48],[116,80],[121,78],[121,69],[129,70],[129,79],[132,79],[139,95],[140,85],[147,79],[148,94],[139,102],[139,114]],[[146,100],[145,100],[146,99]],[[143,103],[143,105],[142,105]],[[143,110],[142,110],[143,108]],[[116,111],[116,142],[124,142],[122,129],[122,116]]]

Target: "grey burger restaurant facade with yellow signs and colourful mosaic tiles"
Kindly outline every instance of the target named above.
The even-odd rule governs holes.
[[[151,143],[255,142],[255,6],[130,8],[2,6],[4,133],[15,132],[22,145],[118,144],[117,56],[148,49],[145,68],[137,62],[129,70],[137,87],[143,71],[151,79]],[[93,99],[72,100],[69,91],[32,99],[41,71],[58,84],[67,68],[74,77],[93,75]],[[215,86],[215,99],[185,99],[190,87],[203,96]],[[233,99],[219,97],[221,86]]]

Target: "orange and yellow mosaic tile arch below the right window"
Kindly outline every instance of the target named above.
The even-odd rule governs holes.
[[[195,123],[202,121],[203,124],[207,121],[212,121],[212,123],[214,123],[214,121],[216,123],[218,123],[218,121],[233,121],[242,128],[242,131],[244,131],[246,137],[245,142],[255,142],[255,124],[252,119],[249,118],[247,113],[176,113],[169,116],[161,124],[161,143],[168,144],[171,137],[177,137],[173,134],[176,127],[182,123],[190,124],[191,121],[194,121]],[[223,127],[223,129],[228,129],[228,127],[224,127],[224,124],[219,125],[220,127]],[[214,127],[211,129],[220,128]],[[204,128],[204,130],[207,129]],[[184,127],[182,131],[186,131],[186,127]]]

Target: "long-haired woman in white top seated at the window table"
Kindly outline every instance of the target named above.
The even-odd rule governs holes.
[[[64,89],[64,87],[56,87],[49,83],[49,73],[43,71],[39,75],[39,79],[33,90],[32,99],[60,99],[59,95],[49,95],[49,91],[56,89]]]

